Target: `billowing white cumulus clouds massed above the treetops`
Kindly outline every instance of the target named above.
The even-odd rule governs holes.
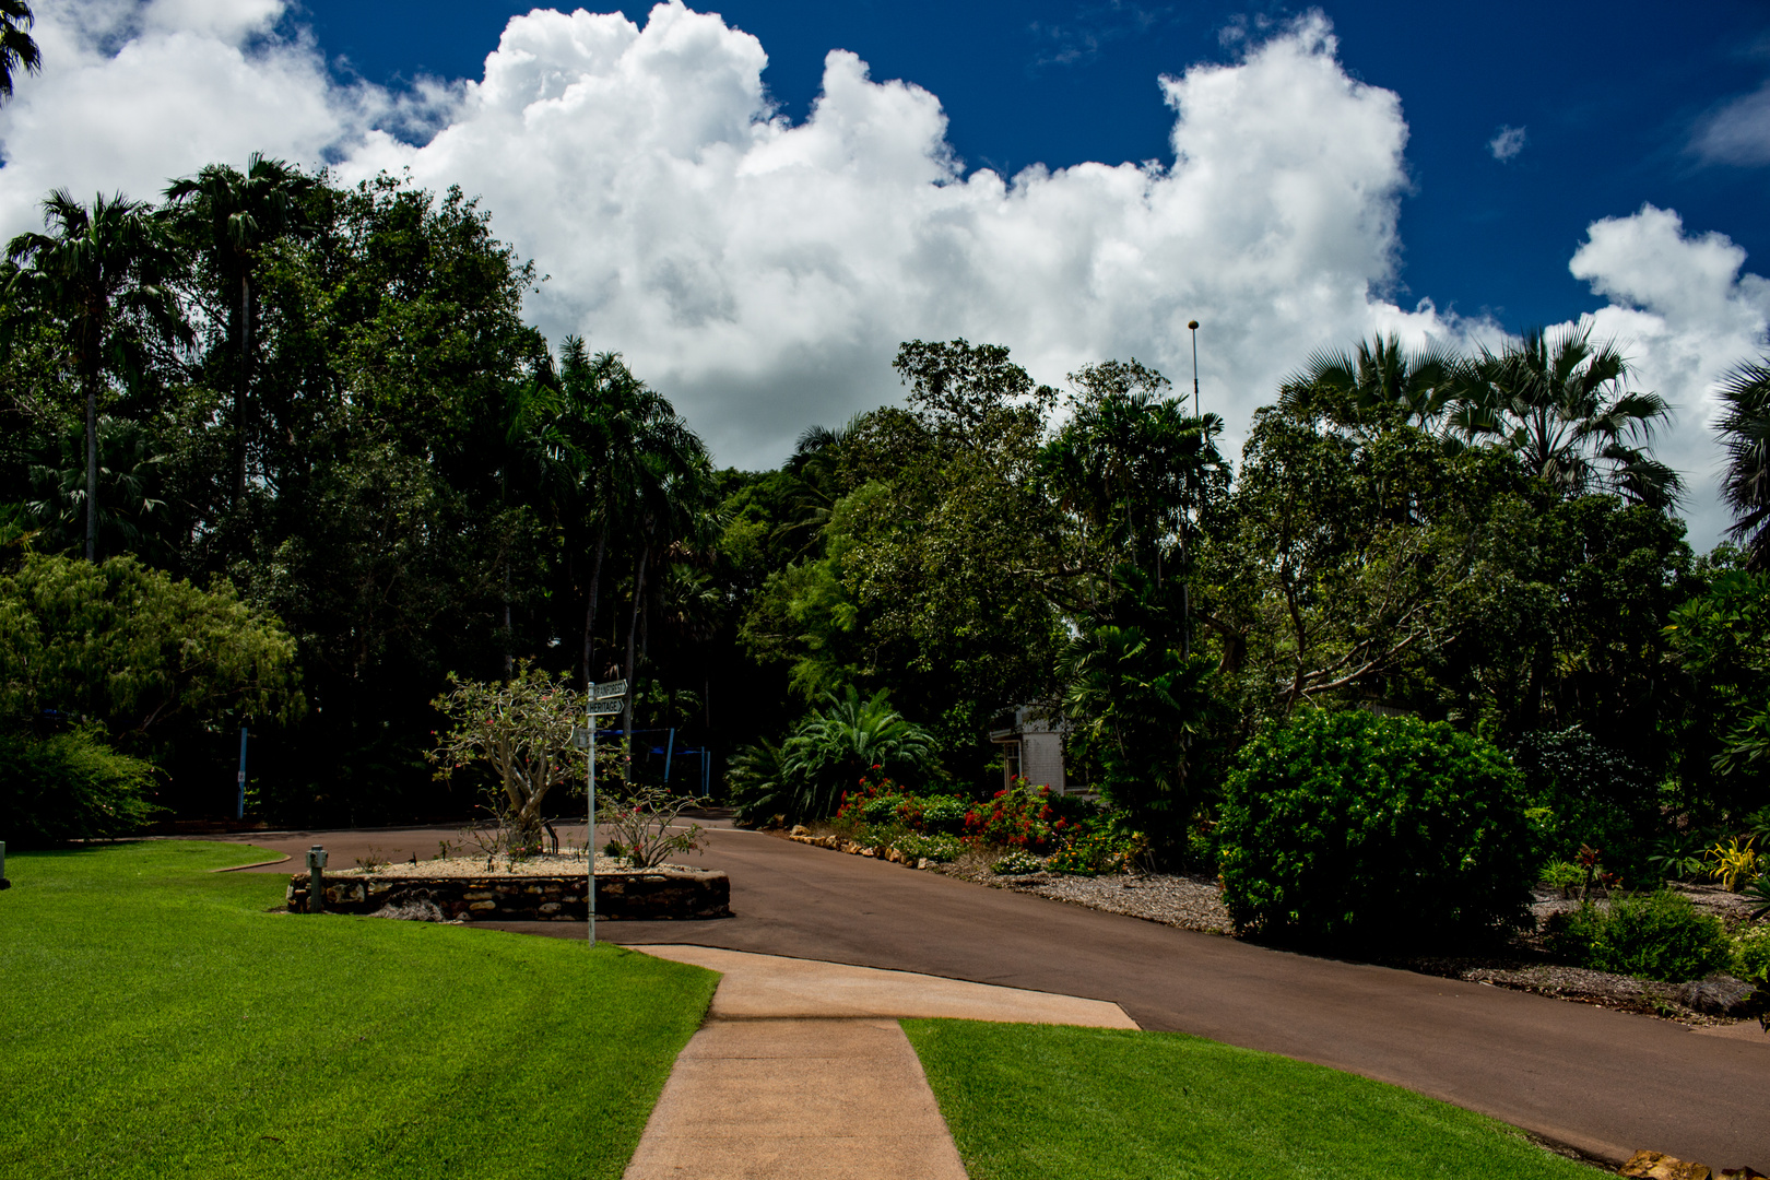
[[[727,464],[779,462],[807,423],[897,398],[890,357],[910,338],[1005,343],[1053,384],[1131,356],[1179,379],[1197,318],[1204,405],[1241,432],[1319,345],[1496,336],[1389,297],[1407,124],[1393,92],[1342,69],[1320,14],[1150,80],[1174,111],[1172,166],[1014,177],[966,172],[936,96],[843,50],[791,122],[763,46],[676,2],[644,25],[517,16],[481,78],[400,96],[333,81],[281,0],[39,16],[44,73],[0,108],[0,232],[34,225],[58,184],[149,196],[251,150],[352,180],[411,168],[483,198],[550,276],[527,308],[550,338],[625,352]],[[1597,223],[1574,265],[1614,303],[1600,320],[1701,398],[1763,326],[1736,255],[1643,211]]]

